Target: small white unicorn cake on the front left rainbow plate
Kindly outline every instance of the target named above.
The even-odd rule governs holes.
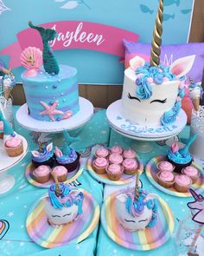
[[[58,183],[55,175],[54,181],[55,183],[48,189],[48,197],[44,199],[44,208],[48,223],[51,226],[60,227],[77,220],[83,213],[84,194],[75,187]]]

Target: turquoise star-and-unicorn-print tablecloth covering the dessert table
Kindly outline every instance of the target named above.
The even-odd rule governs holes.
[[[14,108],[16,113],[17,107]],[[36,200],[48,192],[48,189],[35,187],[25,178],[25,168],[30,161],[30,151],[36,148],[36,134],[26,130],[18,125],[15,121],[16,132],[23,135],[29,142],[29,152],[15,167],[10,168],[9,174],[15,177],[15,186],[7,193],[0,195],[0,255],[174,255],[175,243],[170,238],[163,246],[150,251],[133,251],[119,246],[104,231],[102,225],[99,225],[94,231],[80,244],[70,244],[67,246],[46,249],[36,245],[30,238],[26,230],[25,222],[29,209],[34,205]],[[75,141],[73,147],[85,152],[95,144],[105,146],[121,145],[124,148],[130,148],[131,139],[119,135],[111,130],[105,117],[105,109],[95,109],[92,119],[86,123],[83,128],[78,128],[71,132],[71,135],[78,136],[80,141]],[[185,139],[188,138],[189,128],[186,127],[179,135]],[[148,154],[139,154],[139,157],[145,165],[150,159],[157,155],[166,154],[168,146],[161,146],[156,142],[153,143],[153,151]],[[1,158],[1,156],[0,156]],[[2,159],[1,159],[2,161]],[[156,189],[147,179],[145,172],[141,174],[143,188],[158,194],[165,200],[171,208],[175,220],[175,232],[177,231],[179,221],[188,215],[187,202],[189,198],[175,197],[165,194]],[[83,173],[77,180],[71,183],[75,187],[86,189],[91,193],[101,206],[109,194],[123,186],[104,185],[92,178],[84,167]],[[133,187],[134,181],[125,187]],[[2,230],[1,228],[4,228]],[[204,248],[203,248],[204,250]],[[176,254],[175,254],[176,255]]]

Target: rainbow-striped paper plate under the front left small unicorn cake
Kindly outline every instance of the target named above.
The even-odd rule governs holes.
[[[54,228],[48,224],[43,199],[30,209],[26,228],[31,240],[46,248],[80,243],[88,237],[99,222],[99,204],[91,194],[80,189],[84,194],[83,213],[79,218],[65,226]]]

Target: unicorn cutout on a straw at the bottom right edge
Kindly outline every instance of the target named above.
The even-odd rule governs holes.
[[[194,201],[188,202],[187,205],[191,210],[199,210],[198,212],[193,213],[192,218],[192,220],[194,220],[194,222],[198,223],[199,225],[195,230],[194,239],[188,249],[188,256],[199,256],[199,254],[196,253],[195,244],[201,234],[204,224],[204,197],[201,194],[196,194],[196,192],[192,188],[189,189],[189,192],[194,197]]]

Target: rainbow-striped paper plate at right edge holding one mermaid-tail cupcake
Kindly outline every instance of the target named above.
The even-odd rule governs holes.
[[[174,187],[163,187],[161,186],[158,182],[157,182],[157,177],[156,174],[158,172],[158,169],[156,167],[156,165],[160,162],[160,161],[167,161],[167,158],[165,155],[160,155],[157,157],[152,158],[146,165],[145,167],[145,173],[147,175],[148,180],[152,183],[152,185],[156,188],[158,188],[159,190],[163,191],[166,194],[171,194],[171,195],[175,195],[175,196],[179,196],[179,197],[191,197],[192,194],[190,193],[182,193],[182,192],[178,192],[175,190]],[[204,173],[203,170],[200,166],[198,166],[197,164],[195,164],[194,162],[192,162],[191,166],[197,168],[200,172],[201,175],[199,177],[199,179],[192,184],[192,188],[194,189],[194,191],[196,191],[197,194],[201,194],[201,192],[203,192],[204,190]]]

